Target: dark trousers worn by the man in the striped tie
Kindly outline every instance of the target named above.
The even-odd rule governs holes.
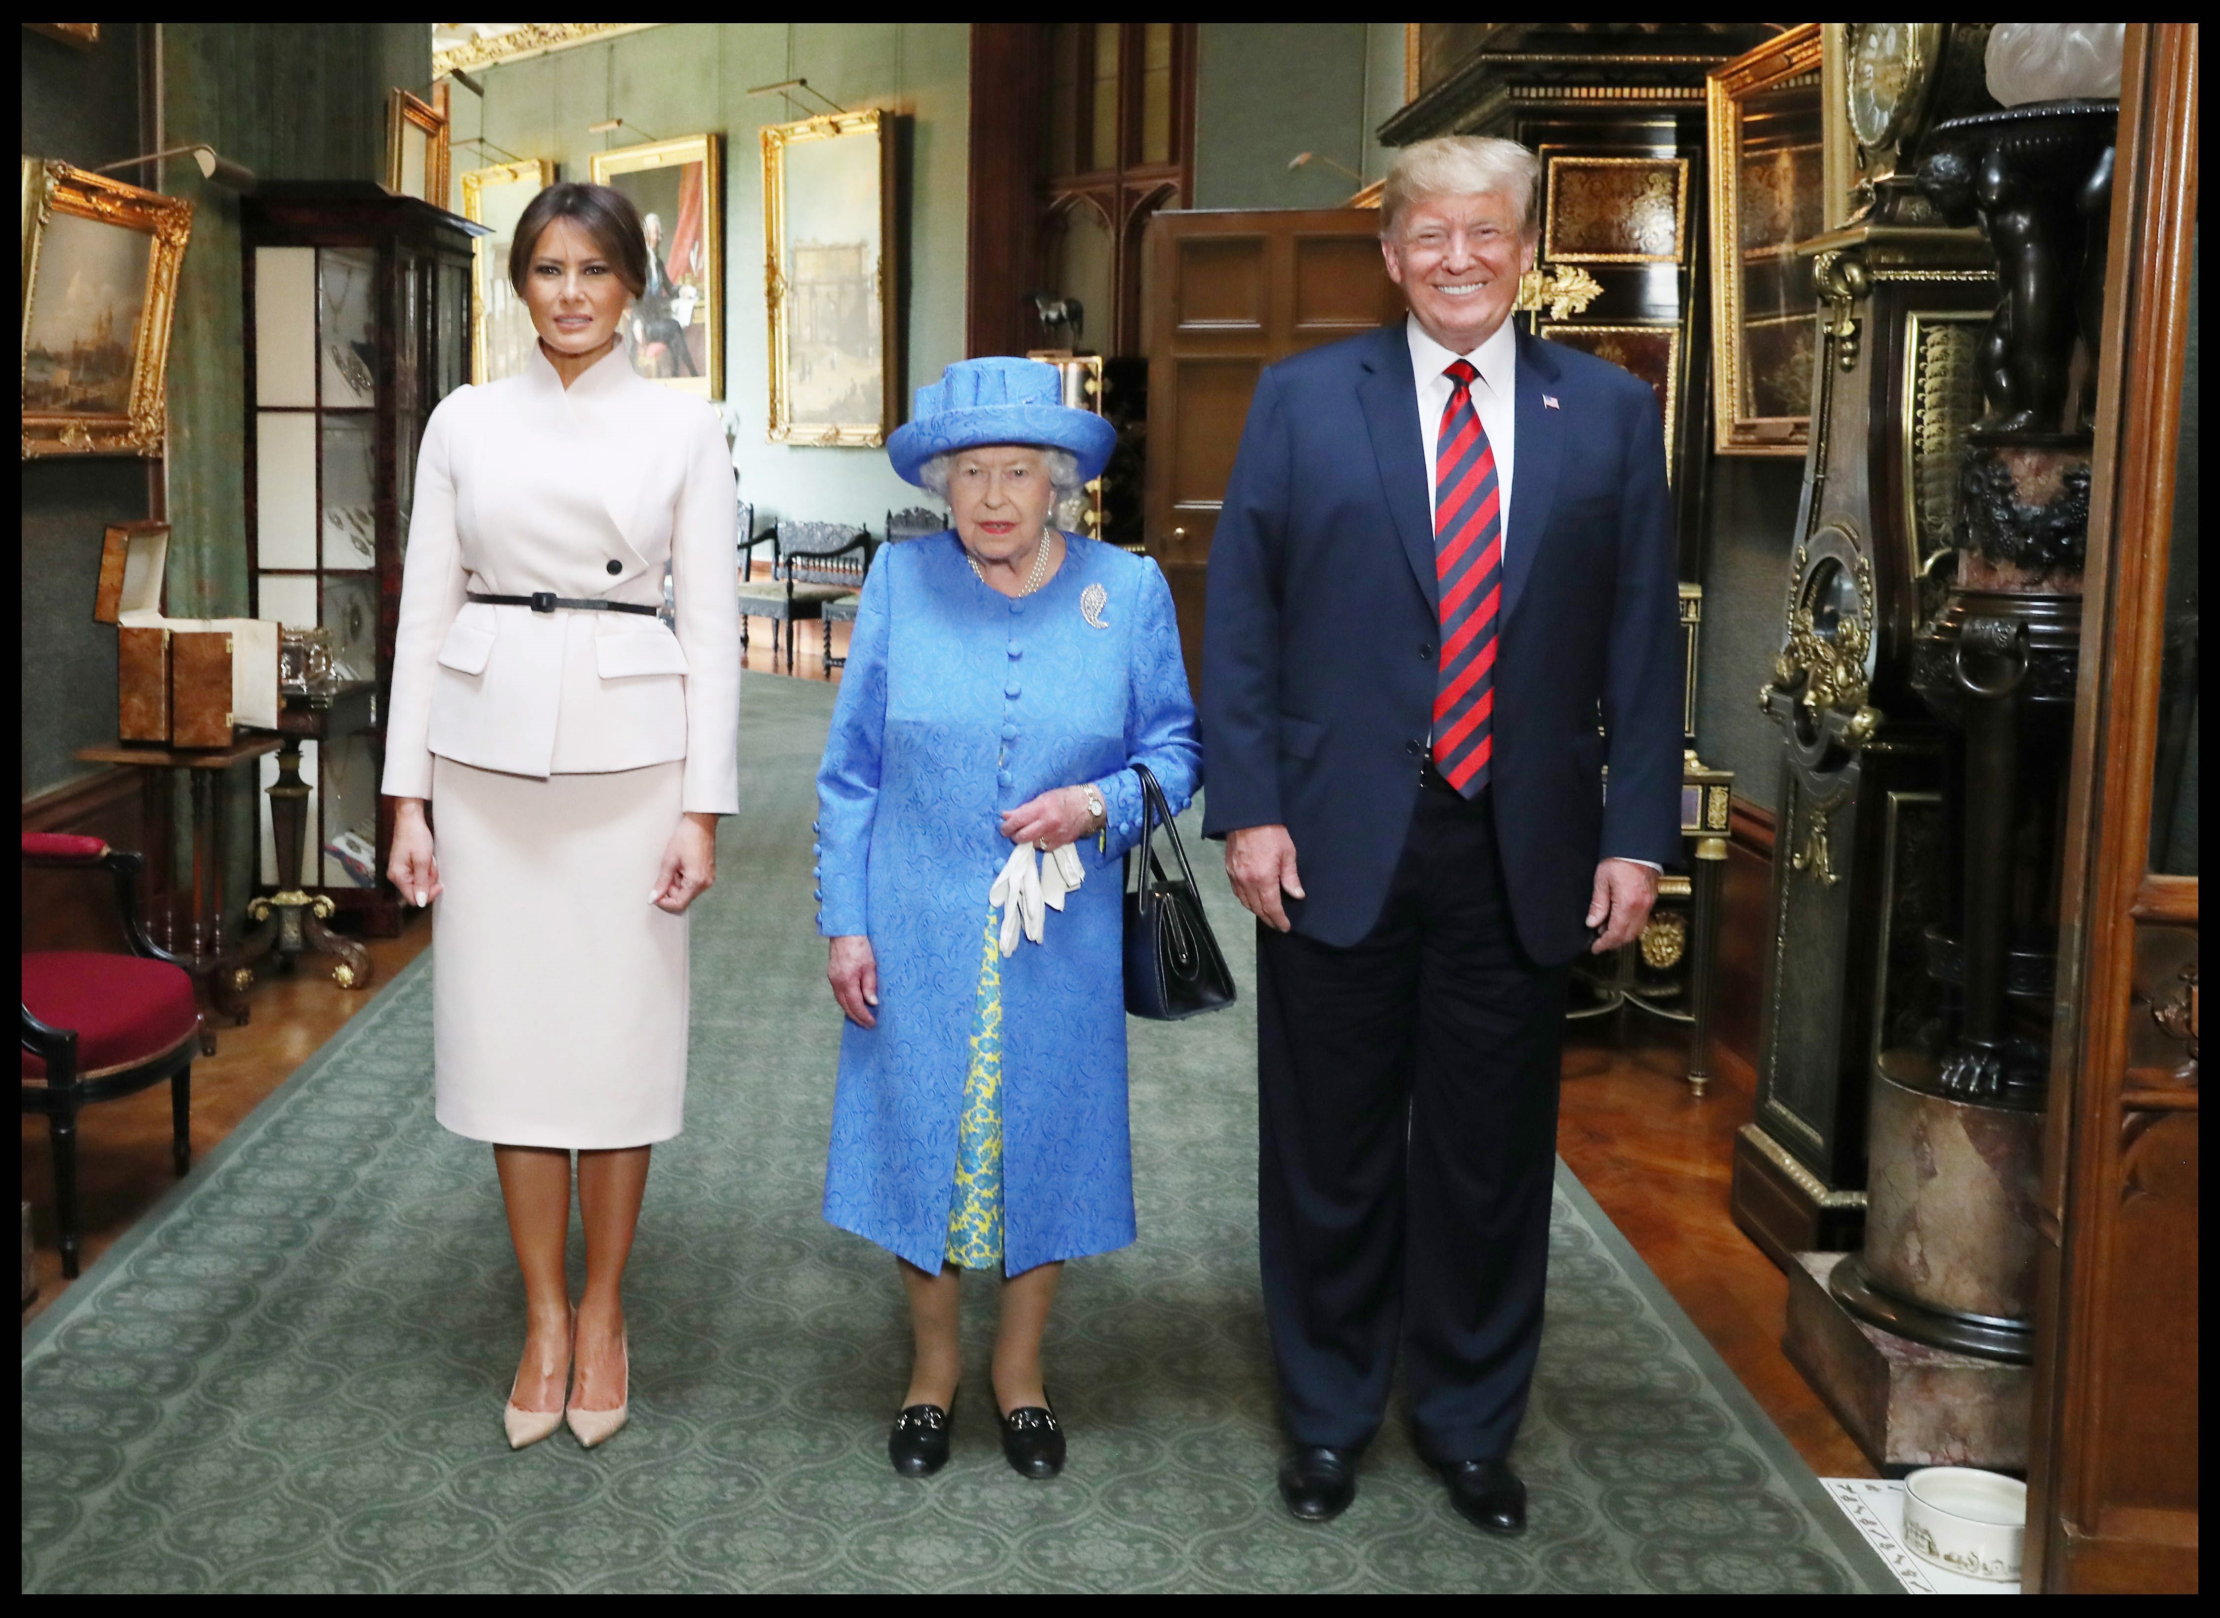
[[[1361,943],[1259,923],[1263,1296],[1294,1443],[1370,1443],[1401,1347],[1430,1460],[1510,1452],[1541,1345],[1567,972],[1518,948],[1492,795],[1439,783]]]

